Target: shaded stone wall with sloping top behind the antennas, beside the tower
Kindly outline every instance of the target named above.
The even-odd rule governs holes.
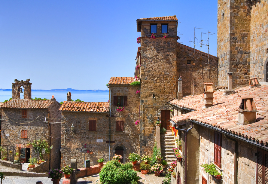
[[[202,53],[201,61],[198,59],[193,63],[193,48],[178,44],[177,50],[177,76],[182,76],[182,94],[193,95],[193,92],[194,94],[202,93],[204,91],[204,82],[213,82],[213,88],[216,89],[218,82],[218,58]],[[195,50],[195,59],[200,57],[200,54],[200,51]],[[190,60],[190,64],[187,64],[187,60]]]

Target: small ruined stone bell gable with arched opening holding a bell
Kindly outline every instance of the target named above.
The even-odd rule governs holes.
[[[24,88],[23,98],[31,100],[32,99],[32,83],[29,82],[30,79],[26,81],[18,81],[17,79],[12,82],[12,99],[20,98],[20,87]]]

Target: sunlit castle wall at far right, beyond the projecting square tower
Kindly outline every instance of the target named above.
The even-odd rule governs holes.
[[[251,57],[250,76],[257,77],[260,82],[267,82],[268,58],[268,3],[261,0],[251,9]]]

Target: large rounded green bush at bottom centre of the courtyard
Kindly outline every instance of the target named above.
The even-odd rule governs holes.
[[[99,173],[102,184],[136,184],[139,177],[131,163],[121,164],[117,160],[108,161]]]

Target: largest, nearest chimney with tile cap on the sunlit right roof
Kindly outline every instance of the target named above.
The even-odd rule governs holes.
[[[238,109],[239,125],[245,125],[256,122],[257,108],[254,103],[254,96],[241,96],[242,101]]]

